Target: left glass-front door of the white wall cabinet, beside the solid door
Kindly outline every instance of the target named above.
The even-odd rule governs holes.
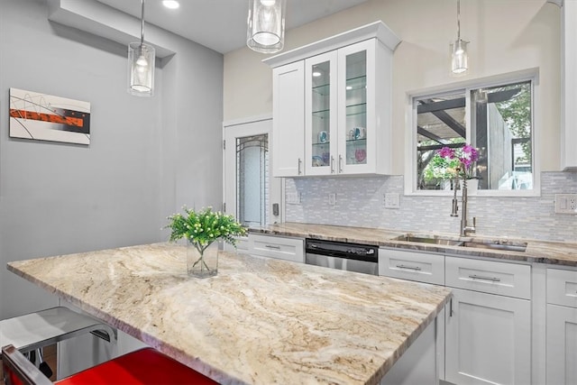
[[[307,175],[336,173],[337,53],[305,60],[305,162]]]

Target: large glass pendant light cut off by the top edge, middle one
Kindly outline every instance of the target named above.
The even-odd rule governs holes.
[[[286,0],[249,0],[246,45],[251,50],[275,53],[285,41]]]

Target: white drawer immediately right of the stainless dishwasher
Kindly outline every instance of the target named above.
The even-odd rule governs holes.
[[[444,285],[444,255],[381,248],[379,275]]]

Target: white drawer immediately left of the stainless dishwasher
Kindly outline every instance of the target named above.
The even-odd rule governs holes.
[[[305,262],[305,244],[302,239],[250,234],[250,253],[279,260]]]

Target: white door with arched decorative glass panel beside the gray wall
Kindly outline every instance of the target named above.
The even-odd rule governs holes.
[[[272,178],[270,119],[224,126],[224,211],[243,225],[281,222],[280,179]]]

